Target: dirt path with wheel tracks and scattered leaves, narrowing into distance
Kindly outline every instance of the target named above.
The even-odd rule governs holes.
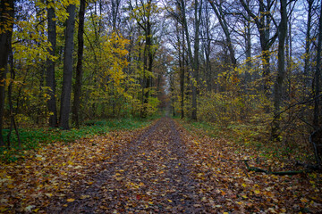
[[[80,186],[67,207],[56,213],[203,213],[211,212],[199,181],[191,176],[180,130],[163,118],[122,148],[113,164],[97,174],[93,185]],[[63,206],[62,206],[63,205]]]

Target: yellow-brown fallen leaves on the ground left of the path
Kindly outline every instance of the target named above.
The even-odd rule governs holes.
[[[99,171],[102,161],[118,155],[119,148],[140,135],[141,130],[114,131],[73,143],[57,142],[26,152],[25,159],[2,163],[0,213],[38,212],[57,197],[65,197]]]

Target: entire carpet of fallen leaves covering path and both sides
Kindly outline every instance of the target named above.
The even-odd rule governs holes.
[[[248,171],[222,138],[173,119],[72,144],[50,144],[0,169],[0,212],[319,213],[321,175]],[[272,160],[272,162],[275,160]],[[275,165],[282,163],[275,162]],[[259,167],[259,166],[258,166]]]

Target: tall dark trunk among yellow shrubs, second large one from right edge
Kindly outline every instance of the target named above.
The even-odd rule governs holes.
[[[278,28],[278,73],[274,87],[274,121],[272,127],[272,137],[279,140],[280,129],[280,107],[283,95],[283,81],[285,76],[285,37],[287,35],[287,0],[281,0],[281,22]]]

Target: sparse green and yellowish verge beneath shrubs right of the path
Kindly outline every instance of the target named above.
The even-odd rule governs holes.
[[[313,152],[308,144],[296,142],[287,143],[271,142],[267,133],[258,131],[258,127],[247,124],[234,124],[221,127],[205,121],[191,121],[188,119],[176,119],[182,126],[199,136],[213,138],[225,138],[236,145],[236,152],[252,152],[257,157],[267,159],[279,159],[284,161],[309,161],[314,162]]]

